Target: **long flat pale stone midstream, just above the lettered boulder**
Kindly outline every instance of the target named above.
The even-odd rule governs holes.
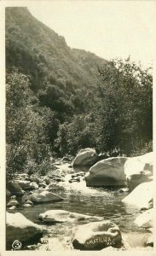
[[[75,222],[85,219],[101,220],[101,217],[79,214],[76,212],[68,212],[64,210],[49,210],[39,214],[39,218],[43,222]]]

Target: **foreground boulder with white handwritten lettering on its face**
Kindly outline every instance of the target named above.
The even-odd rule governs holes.
[[[72,245],[79,250],[101,250],[105,247],[121,247],[121,232],[108,220],[78,226],[72,231]]]

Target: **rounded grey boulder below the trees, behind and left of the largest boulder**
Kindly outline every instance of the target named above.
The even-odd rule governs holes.
[[[75,160],[73,166],[93,166],[97,160],[97,154],[93,148],[81,149]]]

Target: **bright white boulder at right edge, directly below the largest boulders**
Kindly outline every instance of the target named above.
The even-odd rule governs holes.
[[[149,208],[149,202],[153,199],[153,182],[141,183],[122,200],[127,205],[133,205],[139,209]]]

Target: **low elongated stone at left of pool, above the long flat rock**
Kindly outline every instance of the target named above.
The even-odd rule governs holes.
[[[42,190],[41,192],[35,192],[31,195],[30,200],[34,203],[43,203],[48,201],[62,201],[63,198],[60,195],[56,195],[48,190]]]

